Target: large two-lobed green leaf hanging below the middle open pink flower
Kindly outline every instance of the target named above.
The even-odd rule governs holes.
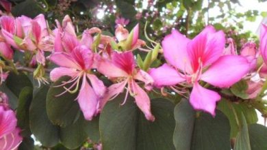
[[[155,121],[150,122],[134,103],[132,97],[120,106],[124,95],[108,102],[100,115],[103,149],[175,149],[172,138],[175,128],[174,104],[157,98],[151,100]]]

